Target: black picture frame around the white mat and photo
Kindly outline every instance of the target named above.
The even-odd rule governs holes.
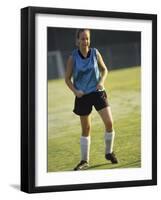
[[[58,14],[118,19],[150,20],[152,22],[152,178],[118,182],[72,185],[35,185],[35,16]],[[21,190],[27,193],[103,189],[157,184],[157,15],[26,7],[21,9]]]

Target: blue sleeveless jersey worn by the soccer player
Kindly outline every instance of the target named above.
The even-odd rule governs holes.
[[[100,80],[96,51],[97,49],[91,48],[90,56],[84,59],[78,53],[78,49],[72,52],[73,84],[85,94],[95,92]]]

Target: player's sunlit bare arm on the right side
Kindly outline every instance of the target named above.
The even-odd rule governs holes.
[[[106,67],[106,65],[103,61],[101,54],[98,51],[97,51],[97,60],[98,60],[99,70],[100,70],[100,73],[101,73],[101,78],[100,78],[100,81],[97,85],[97,89],[102,90],[102,89],[104,89],[104,82],[107,78],[108,70],[107,70],[107,67]]]

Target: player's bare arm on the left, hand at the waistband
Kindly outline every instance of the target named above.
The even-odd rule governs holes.
[[[73,59],[72,56],[70,56],[67,60],[67,66],[66,66],[66,72],[65,72],[65,82],[67,86],[70,88],[70,90],[74,93],[77,97],[82,97],[84,93],[82,91],[78,91],[75,89],[71,78],[72,78],[72,72],[73,72]]]

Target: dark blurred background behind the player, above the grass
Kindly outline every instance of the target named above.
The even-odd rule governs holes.
[[[108,70],[141,65],[141,32],[91,30],[91,47],[97,48]],[[48,80],[63,78],[66,61],[75,46],[73,28],[47,28]]]

